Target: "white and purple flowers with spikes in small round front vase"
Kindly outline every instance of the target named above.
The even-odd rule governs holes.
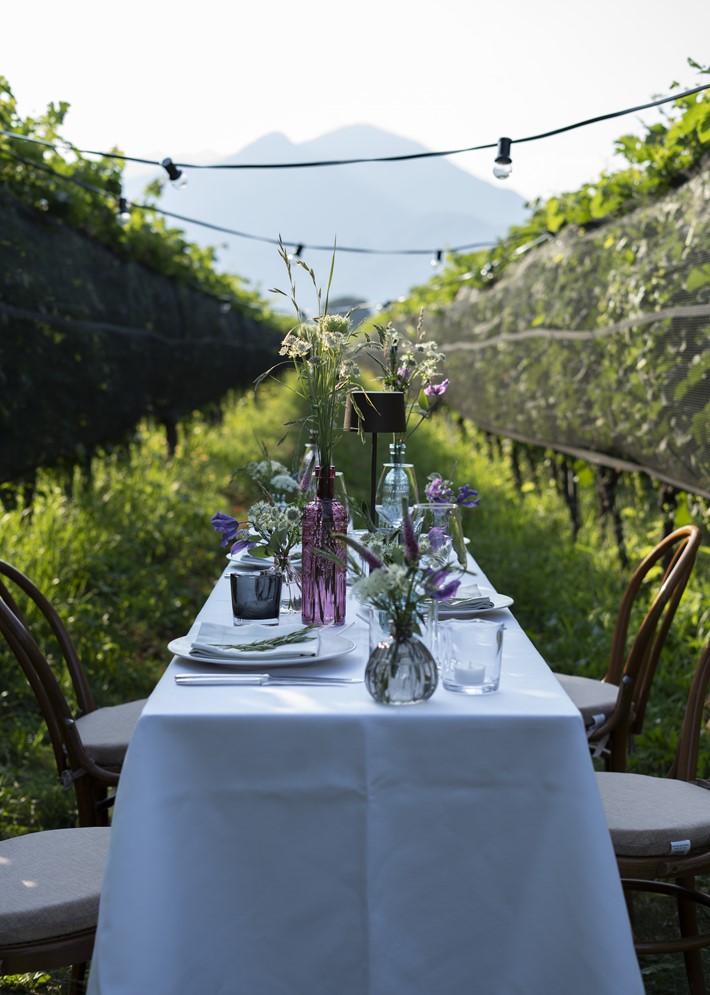
[[[343,537],[361,557],[351,565],[357,579],[353,594],[363,603],[384,612],[395,638],[421,633],[431,601],[446,601],[458,590],[460,574],[455,564],[431,567],[427,563],[427,543],[436,537],[417,539],[406,503],[402,507],[402,542],[387,544],[388,562],[383,562],[372,548],[352,537]],[[365,567],[369,569],[366,572]]]

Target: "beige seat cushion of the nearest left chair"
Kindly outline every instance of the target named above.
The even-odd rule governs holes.
[[[96,927],[110,835],[100,826],[0,841],[0,947]]]

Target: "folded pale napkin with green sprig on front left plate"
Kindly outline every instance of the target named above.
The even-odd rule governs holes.
[[[305,631],[304,631],[305,630]],[[286,641],[288,640],[288,641]],[[320,633],[303,625],[218,625],[202,622],[190,648],[190,656],[224,660],[258,658],[280,660],[318,656]]]

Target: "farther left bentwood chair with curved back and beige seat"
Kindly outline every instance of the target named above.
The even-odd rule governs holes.
[[[26,611],[19,607],[18,598]],[[79,825],[108,825],[112,792],[145,700],[98,708],[71,637],[53,605],[28,577],[3,560],[0,634],[39,702],[59,778],[76,794]],[[75,708],[64,694],[50,658],[63,660]]]

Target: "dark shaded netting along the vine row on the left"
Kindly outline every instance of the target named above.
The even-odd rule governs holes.
[[[146,415],[168,426],[253,383],[281,336],[0,204],[0,483],[83,461]]]

